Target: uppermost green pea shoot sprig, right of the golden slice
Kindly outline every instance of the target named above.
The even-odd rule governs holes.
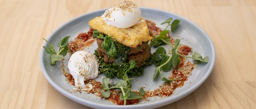
[[[173,18],[168,18],[167,20],[165,20],[163,23],[161,23],[161,25],[163,24],[168,24],[165,29],[163,31],[160,32],[159,35],[154,36],[154,38],[150,41],[150,46],[154,46],[154,47],[158,47],[160,45],[163,45],[164,42],[163,41],[170,41],[170,38],[168,38],[166,36],[166,34],[169,33],[169,30],[166,30],[169,26],[171,28],[171,32],[174,32],[174,30],[178,27],[180,20],[174,20],[173,22],[171,22],[173,20]]]

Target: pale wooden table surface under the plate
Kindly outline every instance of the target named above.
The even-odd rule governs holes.
[[[179,14],[211,37],[216,63],[196,91],[159,109],[256,108],[255,0],[141,0],[139,6]],[[53,30],[121,0],[0,0],[0,108],[89,109],[56,91],[39,66]]]

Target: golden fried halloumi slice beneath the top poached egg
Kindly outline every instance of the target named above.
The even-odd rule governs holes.
[[[119,43],[132,48],[136,48],[137,45],[141,45],[142,42],[151,41],[152,39],[145,21],[127,29],[119,29],[106,24],[101,17],[96,17],[89,21],[89,25],[98,32],[110,35]]]

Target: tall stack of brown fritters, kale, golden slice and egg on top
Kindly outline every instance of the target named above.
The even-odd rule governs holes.
[[[104,57],[104,63],[121,66],[135,61],[143,66],[150,58],[148,41],[152,37],[139,7],[130,1],[105,11],[102,16],[89,21],[93,38],[97,38],[97,55]]]

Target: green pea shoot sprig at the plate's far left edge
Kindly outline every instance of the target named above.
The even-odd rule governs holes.
[[[50,44],[46,39],[46,43],[49,45],[49,47],[43,46],[47,54],[50,54],[50,63],[51,65],[54,65],[56,61],[61,61],[67,55],[67,51],[69,51],[68,42],[69,42],[70,36],[66,36],[63,39],[59,39],[57,46],[59,47],[59,52],[56,52],[54,50],[54,46]]]

